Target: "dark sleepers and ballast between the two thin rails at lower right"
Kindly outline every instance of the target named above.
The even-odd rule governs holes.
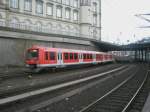
[[[122,112],[145,81],[146,74],[147,70],[141,66],[134,76],[131,74],[133,77],[125,84],[82,112]]]

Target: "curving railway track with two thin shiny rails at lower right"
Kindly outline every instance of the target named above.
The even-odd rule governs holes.
[[[145,90],[141,93],[141,97],[139,96],[139,102],[134,101],[134,99],[142,91],[143,85],[148,86],[150,83],[150,81],[146,82],[150,77],[148,73],[143,74],[140,71],[136,75],[130,76],[128,80],[83,108],[80,112],[140,112],[137,110],[142,109],[142,103],[145,101],[145,97],[142,96],[145,96]]]

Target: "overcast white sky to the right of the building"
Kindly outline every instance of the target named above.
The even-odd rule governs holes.
[[[134,42],[143,37],[150,37],[150,28],[138,28],[150,26],[150,23],[135,16],[150,13],[150,0],[101,0],[101,2],[103,41],[126,44],[127,40]]]

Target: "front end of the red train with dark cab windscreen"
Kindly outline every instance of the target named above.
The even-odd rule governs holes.
[[[62,55],[57,49],[32,47],[27,50],[26,64],[30,68],[56,67],[59,60],[62,60]]]

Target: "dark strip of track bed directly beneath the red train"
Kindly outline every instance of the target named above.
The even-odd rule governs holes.
[[[112,65],[112,64],[110,64]],[[121,64],[114,64],[114,65],[121,65]],[[103,64],[103,66],[109,66],[109,64]],[[0,79],[3,79],[3,80],[7,80],[7,79],[10,79],[10,78],[17,78],[17,77],[26,77],[28,75],[43,75],[43,74],[54,74],[54,73],[63,73],[63,72],[66,72],[66,71],[75,71],[75,70],[78,70],[78,69],[91,69],[91,68],[98,68],[100,67],[99,65],[84,65],[84,66],[81,66],[81,67],[78,67],[78,66],[74,66],[74,67],[66,67],[66,68],[57,68],[57,69],[45,69],[39,73],[36,73],[36,72],[32,72],[31,70],[29,69],[25,69],[25,70],[6,70],[5,72],[0,72]],[[101,66],[102,67],[102,66]],[[21,75],[20,75],[21,74]]]

